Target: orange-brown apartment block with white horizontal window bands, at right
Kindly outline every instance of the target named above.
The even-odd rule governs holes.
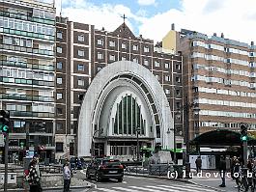
[[[173,47],[184,56],[184,98],[190,106],[189,137],[213,129],[256,128],[256,46],[182,29]],[[166,39],[166,38],[165,38]],[[167,39],[166,39],[167,40]],[[165,41],[168,44],[168,41]],[[170,45],[169,45],[170,46]],[[193,103],[193,104],[192,104]],[[194,113],[195,107],[199,114]]]

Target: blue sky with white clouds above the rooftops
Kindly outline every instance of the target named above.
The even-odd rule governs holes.
[[[256,0],[55,0],[57,15],[114,31],[124,20],[135,36],[162,41],[171,30],[256,42]],[[61,6],[62,5],[62,6]]]

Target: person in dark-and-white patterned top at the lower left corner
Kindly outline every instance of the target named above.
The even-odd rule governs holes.
[[[37,160],[33,159],[29,165],[29,175],[28,175],[30,192],[42,191],[40,176],[41,176],[41,173],[38,167]]]

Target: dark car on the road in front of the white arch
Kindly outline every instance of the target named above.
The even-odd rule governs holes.
[[[117,159],[95,159],[87,167],[86,178],[95,178],[98,182],[103,178],[116,178],[122,182],[124,167]]]

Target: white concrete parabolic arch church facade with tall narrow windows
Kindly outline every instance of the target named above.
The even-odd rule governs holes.
[[[78,156],[136,155],[139,145],[173,149],[174,121],[156,76],[143,66],[119,61],[93,79],[84,96],[78,120]]]

